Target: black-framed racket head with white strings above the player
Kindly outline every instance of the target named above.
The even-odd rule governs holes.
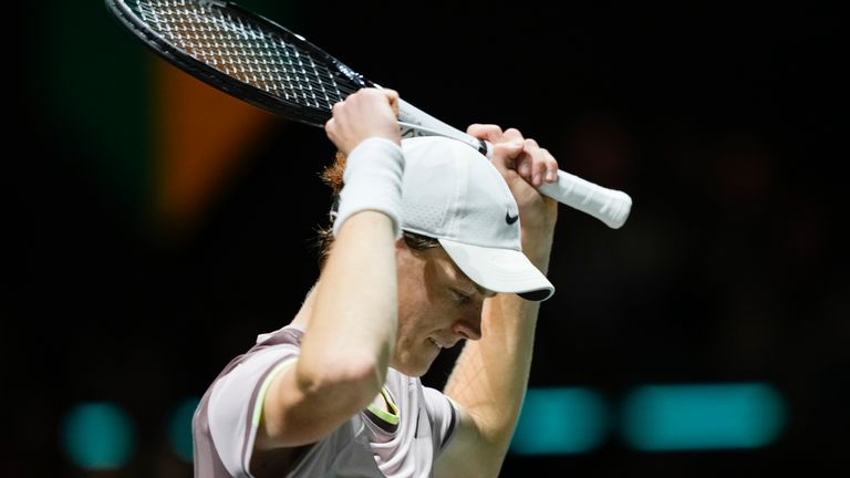
[[[105,0],[157,55],[291,121],[324,126],[334,103],[377,85],[298,33],[216,0]]]

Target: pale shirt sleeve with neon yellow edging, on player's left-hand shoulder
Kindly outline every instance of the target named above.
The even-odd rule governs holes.
[[[215,384],[208,406],[209,432],[231,476],[250,476],[249,464],[266,389],[297,357],[298,349],[292,345],[262,349]]]

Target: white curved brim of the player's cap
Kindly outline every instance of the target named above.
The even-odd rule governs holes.
[[[554,285],[522,252],[470,246],[439,239],[458,268],[478,285],[494,292],[512,292],[531,301],[545,301]]]

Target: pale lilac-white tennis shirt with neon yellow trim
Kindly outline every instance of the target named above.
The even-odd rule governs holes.
[[[303,331],[287,325],[260,334],[212,382],[193,417],[195,477],[252,477],[249,464],[266,389],[298,360]],[[305,447],[281,478],[429,477],[450,439],[455,405],[419,378],[390,368],[387,407],[370,405],[322,440]]]

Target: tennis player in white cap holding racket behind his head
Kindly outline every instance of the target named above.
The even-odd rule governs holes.
[[[400,137],[397,94],[364,89],[325,124],[339,193],[321,272],[281,329],[210,384],[196,477],[496,477],[526,392],[558,164],[517,129]],[[344,183],[344,186],[343,186]],[[423,386],[465,341],[445,389]]]

